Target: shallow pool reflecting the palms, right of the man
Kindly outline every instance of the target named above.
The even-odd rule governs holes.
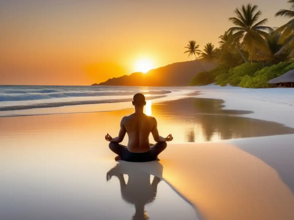
[[[251,111],[223,109],[220,99],[185,98],[152,106],[161,123],[169,120],[171,132],[181,133],[181,142],[219,141],[294,133],[280,123],[251,119]],[[242,117],[248,116],[248,117]],[[174,128],[172,128],[174,125]],[[178,129],[178,128],[181,129]]]

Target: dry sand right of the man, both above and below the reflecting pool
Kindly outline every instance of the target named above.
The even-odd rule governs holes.
[[[196,87],[224,109],[294,127],[293,89]],[[196,208],[199,219],[294,219],[294,135],[218,143],[170,144],[157,162],[136,164],[163,177]],[[128,163],[123,162],[129,166]]]

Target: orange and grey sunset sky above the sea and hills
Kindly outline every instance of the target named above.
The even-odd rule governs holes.
[[[261,19],[275,18],[287,1],[244,0],[0,0],[0,84],[89,85],[192,60],[188,40],[200,49],[232,27],[242,4],[257,4]]]

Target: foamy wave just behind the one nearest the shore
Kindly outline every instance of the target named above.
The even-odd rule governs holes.
[[[126,96],[126,95],[134,95],[136,92],[132,91],[118,91],[118,92],[51,92],[56,90],[46,90],[45,93],[11,93],[11,94],[0,94],[0,101],[29,101],[29,100],[39,100],[39,99],[54,99],[54,98],[69,98],[69,97],[96,97],[96,96]],[[5,91],[7,92],[7,91]],[[162,91],[148,91],[141,92],[143,94],[149,95],[163,95],[171,93],[171,91],[162,90]]]

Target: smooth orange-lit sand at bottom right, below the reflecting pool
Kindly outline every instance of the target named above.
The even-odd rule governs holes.
[[[288,141],[282,150],[281,138]],[[157,162],[136,167],[163,177],[193,203],[199,219],[293,219],[293,138],[174,144],[160,157],[162,170]]]

